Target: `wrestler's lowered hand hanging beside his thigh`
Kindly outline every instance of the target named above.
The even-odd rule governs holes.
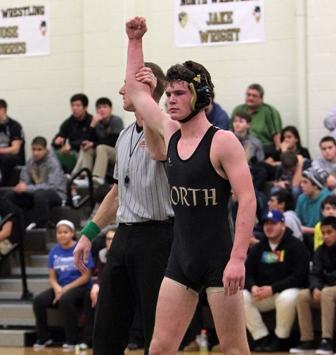
[[[245,264],[230,259],[223,274],[224,295],[235,295],[245,286]]]

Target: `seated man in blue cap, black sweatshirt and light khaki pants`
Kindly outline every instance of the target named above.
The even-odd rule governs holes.
[[[309,250],[292,235],[279,210],[270,210],[263,219],[264,236],[245,262],[246,326],[255,341],[254,351],[283,351],[295,321],[299,288],[308,284]],[[272,309],[276,309],[274,337],[261,318],[261,312]]]

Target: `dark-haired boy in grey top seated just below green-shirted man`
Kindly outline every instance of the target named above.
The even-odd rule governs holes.
[[[258,162],[264,161],[265,154],[261,142],[258,138],[250,135],[249,129],[251,126],[251,115],[247,112],[238,111],[233,116],[232,128],[233,133],[243,145],[247,162],[249,163],[250,171],[254,187],[261,191],[267,179],[267,173],[263,166],[258,165]]]

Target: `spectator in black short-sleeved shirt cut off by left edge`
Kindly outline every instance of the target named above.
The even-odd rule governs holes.
[[[6,185],[15,166],[25,164],[22,126],[7,115],[7,103],[0,99],[0,186]]]

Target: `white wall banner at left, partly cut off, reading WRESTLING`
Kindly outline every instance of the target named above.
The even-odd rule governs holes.
[[[0,8],[0,58],[50,53],[49,5]]]

